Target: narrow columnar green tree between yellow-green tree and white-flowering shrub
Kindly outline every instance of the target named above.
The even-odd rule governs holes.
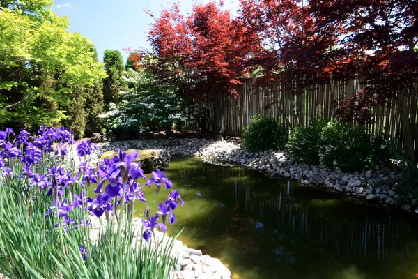
[[[122,78],[125,66],[118,50],[105,50],[103,62],[107,72],[107,77],[103,80],[103,97],[104,104],[109,106],[110,103],[118,103],[119,92],[127,88]]]

